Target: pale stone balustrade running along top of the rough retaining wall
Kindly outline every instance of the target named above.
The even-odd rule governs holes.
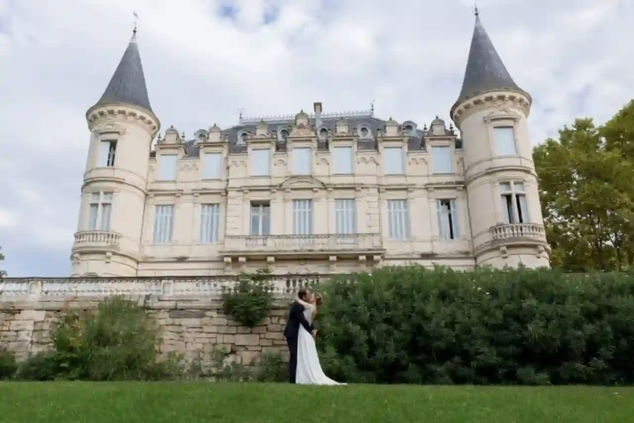
[[[273,294],[285,297],[330,277],[332,275],[271,275],[269,282]],[[237,280],[236,276],[3,278],[0,279],[0,301],[108,296],[218,297],[223,288],[233,287]]]

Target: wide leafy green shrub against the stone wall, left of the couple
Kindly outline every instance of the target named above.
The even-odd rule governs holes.
[[[156,380],[178,374],[158,361],[158,330],[143,307],[111,297],[96,312],[68,311],[51,330],[53,349],[20,368],[31,380]]]

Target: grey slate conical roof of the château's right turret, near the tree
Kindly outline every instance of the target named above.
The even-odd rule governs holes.
[[[480,22],[480,17],[476,13],[465,79],[462,81],[462,90],[454,108],[458,103],[462,103],[468,98],[498,89],[511,89],[528,95],[526,91],[515,84],[511,75],[508,74],[507,68],[502,63],[498,52],[493,47],[493,42],[491,42],[482,22]]]

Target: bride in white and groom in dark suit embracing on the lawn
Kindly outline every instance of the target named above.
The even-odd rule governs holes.
[[[321,369],[314,336],[313,318],[321,305],[319,294],[302,288],[290,305],[284,336],[290,351],[288,381],[298,385],[345,385],[327,377]]]

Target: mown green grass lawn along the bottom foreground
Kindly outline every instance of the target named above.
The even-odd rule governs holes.
[[[627,423],[634,388],[0,383],[11,423]]]

